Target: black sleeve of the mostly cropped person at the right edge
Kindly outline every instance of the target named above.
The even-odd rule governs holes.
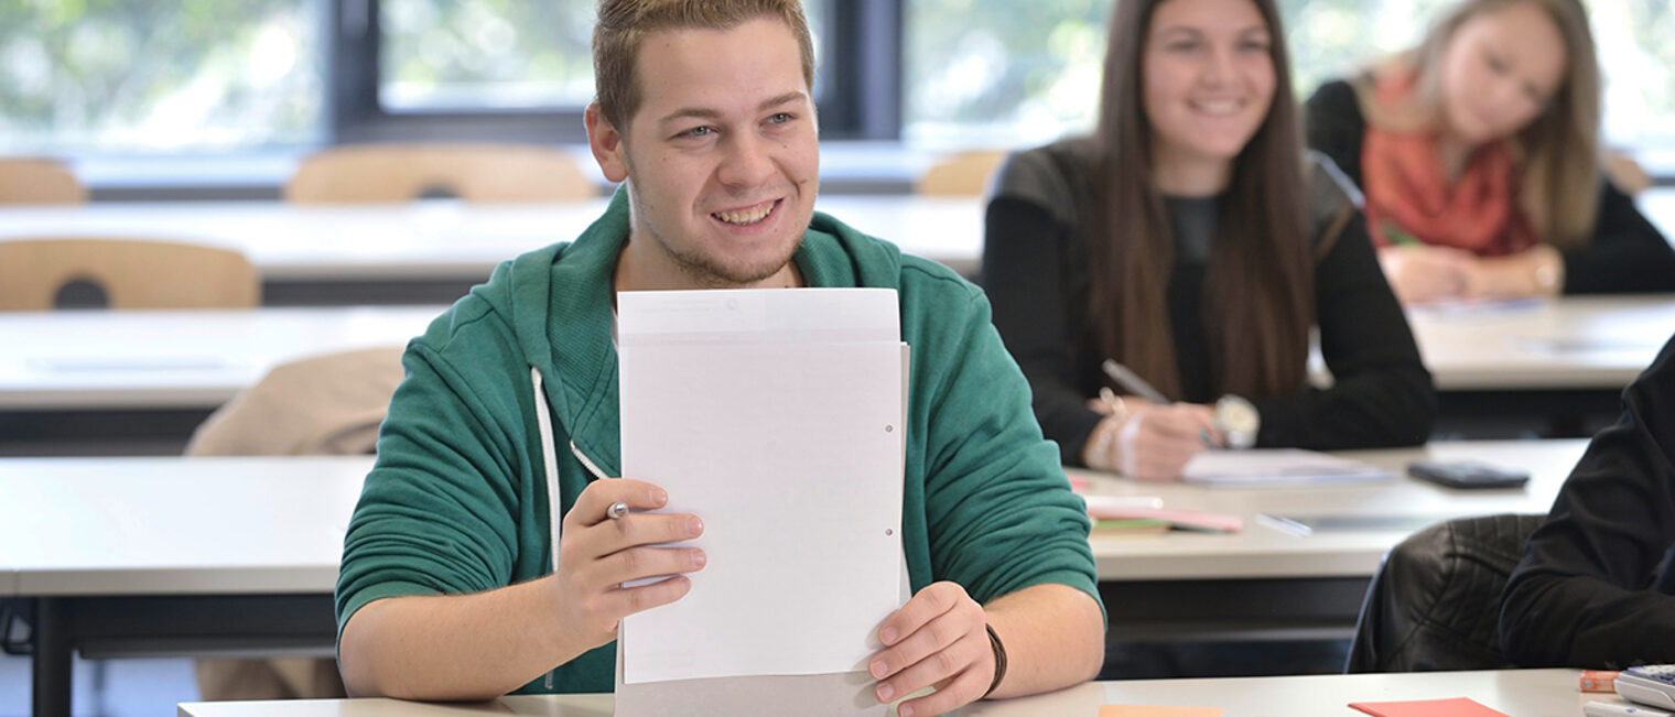
[[[1526,667],[1675,662],[1675,340],[1588,444],[1501,600],[1501,650]],[[1653,576],[1665,566],[1663,591]]]

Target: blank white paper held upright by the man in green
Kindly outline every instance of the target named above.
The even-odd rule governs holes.
[[[891,290],[618,295],[623,474],[709,563],[623,623],[623,682],[864,668],[899,606],[903,348]]]

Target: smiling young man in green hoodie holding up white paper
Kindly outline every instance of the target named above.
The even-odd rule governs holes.
[[[936,685],[901,705],[930,715],[1090,678],[1104,615],[1087,516],[987,300],[814,213],[801,3],[605,0],[593,45],[588,139],[625,184],[575,243],[502,263],[409,345],[343,546],[350,692],[613,687],[618,620],[690,580],[620,585],[705,561],[653,548],[698,536],[700,516],[638,513],[668,496],[600,479],[620,466],[615,291],[675,288],[898,291],[913,347],[901,524],[915,596],[878,628],[879,700]],[[606,518],[618,503],[635,513]]]

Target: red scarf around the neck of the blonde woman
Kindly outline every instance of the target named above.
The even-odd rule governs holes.
[[[1399,104],[1414,79],[1377,80],[1379,102]],[[1518,208],[1518,162],[1506,142],[1479,147],[1449,186],[1434,132],[1394,132],[1367,124],[1362,191],[1367,231],[1379,246],[1424,243],[1477,256],[1502,256],[1536,245]]]

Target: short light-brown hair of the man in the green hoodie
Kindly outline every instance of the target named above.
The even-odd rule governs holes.
[[[797,39],[802,79],[814,87],[814,40],[801,0],[600,0],[593,25],[593,84],[600,111],[616,129],[640,109],[635,59],[640,42],[657,30],[730,30],[759,17],[782,20]]]

